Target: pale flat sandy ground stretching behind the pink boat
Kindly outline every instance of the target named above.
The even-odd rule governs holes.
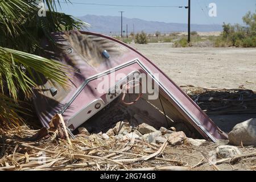
[[[173,48],[171,43],[131,46],[179,86],[256,91],[256,48]]]

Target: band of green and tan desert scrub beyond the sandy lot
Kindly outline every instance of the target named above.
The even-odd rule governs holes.
[[[141,32],[136,35],[131,33],[129,38],[117,39],[127,44],[172,43],[174,47],[256,47],[256,14],[248,12],[242,19],[245,26],[224,23],[223,31],[219,35],[201,35],[192,31],[191,43],[187,42],[187,35],[184,32],[161,34],[156,31],[153,34]]]

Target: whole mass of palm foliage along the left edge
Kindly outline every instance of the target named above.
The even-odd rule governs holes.
[[[32,97],[32,88],[42,82],[68,86],[69,67],[37,56],[44,50],[42,39],[51,32],[77,30],[88,24],[57,12],[60,1],[43,0],[47,16],[38,16],[38,0],[0,0],[0,128],[19,123],[20,94]],[[65,1],[69,3],[69,1]],[[41,55],[41,54],[40,54]],[[2,124],[2,125],[1,125]]]

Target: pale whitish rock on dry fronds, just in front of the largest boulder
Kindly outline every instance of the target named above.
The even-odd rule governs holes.
[[[218,146],[217,155],[220,158],[232,158],[235,155],[242,154],[241,151],[235,146]]]

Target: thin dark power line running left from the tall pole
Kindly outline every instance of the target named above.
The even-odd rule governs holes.
[[[61,2],[60,3],[67,3]],[[143,5],[110,5],[110,4],[99,4],[99,3],[84,3],[84,2],[71,2],[76,5],[93,5],[93,6],[115,6],[115,7],[158,7],[158,8],[183,8],[185,6],[143,6]]]

